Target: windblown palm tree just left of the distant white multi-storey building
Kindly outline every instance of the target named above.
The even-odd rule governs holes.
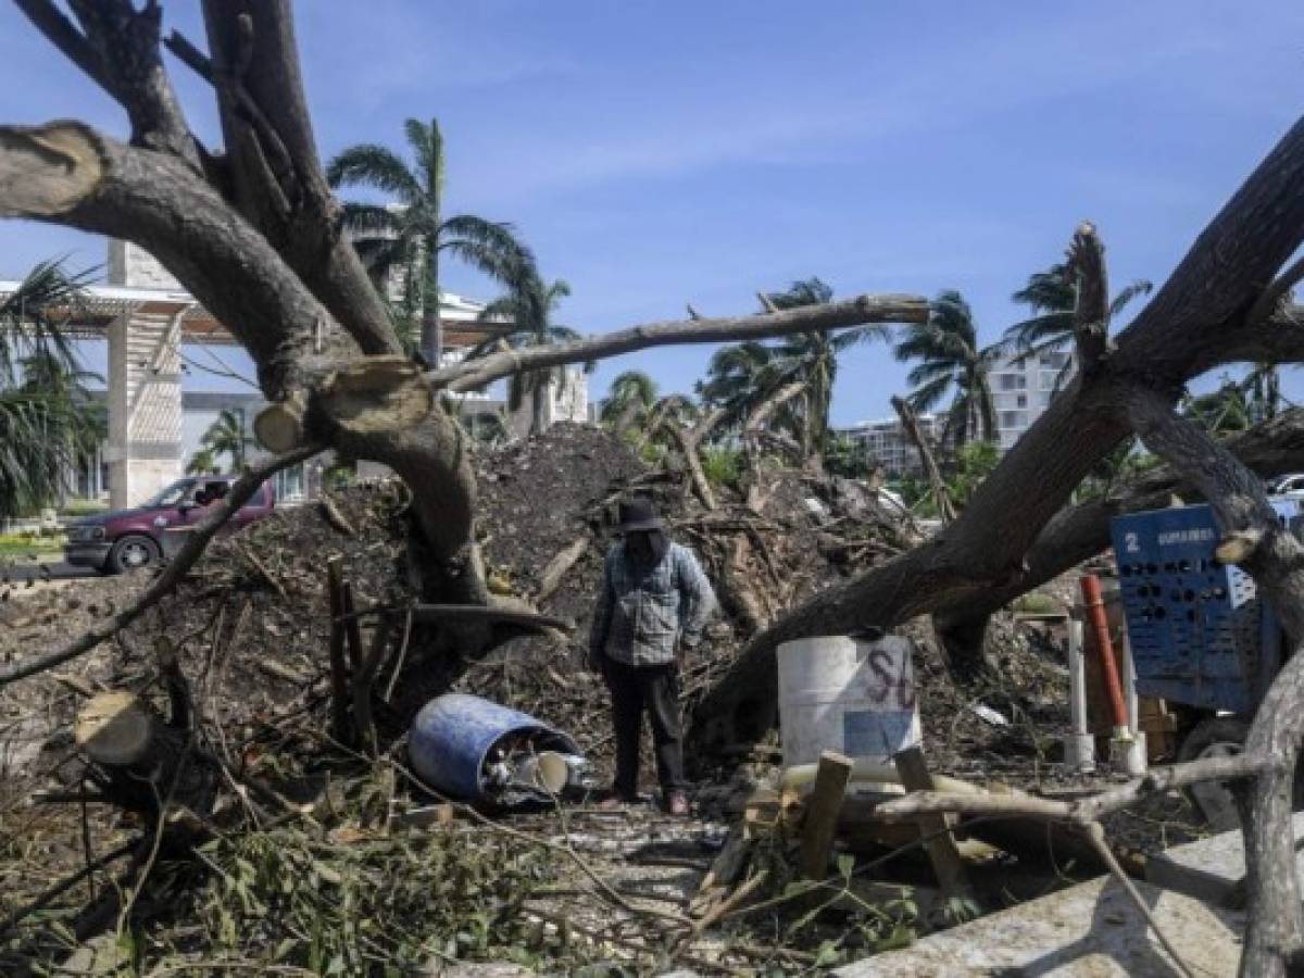
[[[938,293],[928,308],[928,321],[910,323],[896,344],[896,359],[919,360],[908,381],[908,396],[915,411],[928,411],[953,393],[943,442],[964,445],[974,438],[991,441],[996,433],[996,408],[987,374],[1000,359],[1000,347],[978,346],[973,309],[955,289]]]

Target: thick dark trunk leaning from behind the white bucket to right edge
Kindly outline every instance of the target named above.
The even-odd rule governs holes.
[[[1107,366],[1078,374],[932,540],[816,595],[764,632],[703,698],[694,735],[739,742],[777,719],[775,649],[815,634],[892,626],[1018,585],[1026,556],[1091,467],[1131,433],[1136,386],[1176,402],[1222,363],[1244,317],[1304,241],[1304,120],[1296,123],[1124,330]],[[1030,490],[1035,486],[1035,490]]]

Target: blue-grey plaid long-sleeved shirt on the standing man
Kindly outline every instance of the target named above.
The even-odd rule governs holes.
[[[644,567],[619,544],[606,553],[589,656],[605,653],[626,665],[673,662],[677,640],[695,645],[715,606],[711,582],[689,548],[670,544],[660,563]]]

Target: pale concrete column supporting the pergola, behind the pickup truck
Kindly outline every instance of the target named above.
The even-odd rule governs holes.
[[[181,476],[179,343],[188,306],[137,306],[108,329],[110,503],[137,506]]]

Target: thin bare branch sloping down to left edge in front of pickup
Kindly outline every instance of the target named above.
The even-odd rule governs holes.
[[[267,479],[288,466],[312,458],[318,451],[321,451],[319,446],[305,446],[284,455],[275,455],[267,459],[267,462],[250,468],[231,485],[231,492],[213,507],[213,511],[190,533],[177,556],[168,562],[163,572],[134,601],[83,635],[77,636],[63,648],[26,662],[18,662],[0,672],[0,686],[8,686],[18,679],[43,673],[72,659],[77,659],[140,618],[141,614],[158,604],[159,600],[177,585],[190,567],[194,566],[194,562],[203,556],[203,550],[213,537],[216,536],[218,531],[235,515],[236,510],[253,498],[253,494],[258,492],[258,488]]]

